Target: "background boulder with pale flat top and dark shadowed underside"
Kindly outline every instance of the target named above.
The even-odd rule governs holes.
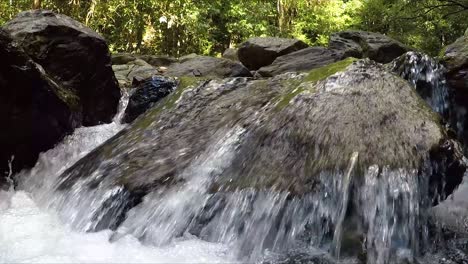
[[[249,70],[258,70],[270,65],[279,56],[307,47],[306,43],[297,39],[258,37],[242,43],[237,55]]]

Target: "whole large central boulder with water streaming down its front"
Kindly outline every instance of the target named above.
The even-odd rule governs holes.
[[[414,258],[425,210],[464,163],[407,81],[369,60],[347,65],[180,86],[65,171],[58,193],[81,193],[93,213],[115,189],[131,197],[118,208],[141,200],[113,240],[190,232],[246,261],[298,243],[367,263]]]

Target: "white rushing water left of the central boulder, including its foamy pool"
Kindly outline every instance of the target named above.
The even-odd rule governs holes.
[[[113,231],[84,233],[50,205],[57,177],[91,150],[125,128],[111,124],[78,128],[36,166],[17,175],[19,190],[0,191],[0,263],[233,263],[228,245],[185,236],[168,245],[143,245],[126,235],[109,242]]]

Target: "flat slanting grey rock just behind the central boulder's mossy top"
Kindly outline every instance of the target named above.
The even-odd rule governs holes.
[[[264,77],[271,77],[286,72],[309,71],[342,60],[343,55],[341,51],[324,47],[305,48],[278,57],[271,65],[260,68],[258,73]]]

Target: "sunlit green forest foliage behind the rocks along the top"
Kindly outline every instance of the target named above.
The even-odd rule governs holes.
[[[380,32],[430,54],[463,35],[468,0],[42,0],[114,52],[219,56],[253,36],[326,45],[346,29]],[[33,0],[0,0],[0,25]]]

